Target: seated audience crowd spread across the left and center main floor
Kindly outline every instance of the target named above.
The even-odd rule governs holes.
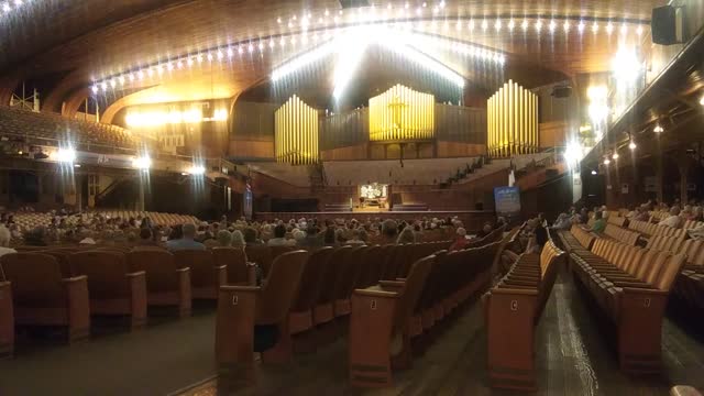
[[[483,238],[506,223],[486,222],[476,235],[470,235],[464,224],[454,218],[420,218],[415,221],[393,219],[290,219],[248,221],[244,218],[229,221],[185,223],[178,226],[154,224],[148,217],[110,218],[99,212],[74,213],[52,211],[50,223],[22,230],[12,213],[0,215],[0,254],[11,252],[11,245],[48,246],[57,244],[121,244],[133,246],[163,246],[170,251],[202,250],[213,246],[339,246],[404,244],[420,242],[424,234],[439,230],[448,239],[454,239],[452,250],[463,249],[471,238]]]

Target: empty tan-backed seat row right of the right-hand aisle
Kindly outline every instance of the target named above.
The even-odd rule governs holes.
[[[658,372],[662,317],[684,254],[598,239],[570,254],[571,268],[604,319],[625,372]]]

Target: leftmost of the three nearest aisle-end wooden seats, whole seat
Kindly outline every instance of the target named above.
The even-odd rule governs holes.
[[[221,370],[254,382],[254,352],[276,349],[287,330],[308,252],[282,254],[263,286],[221,286],[216,319],[216,360]]]

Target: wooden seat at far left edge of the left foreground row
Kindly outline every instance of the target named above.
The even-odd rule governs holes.
[[[6,254],[0,265],[12,285],[16,324],[66,327],[69,341],[89,336],[86,276],[65,278],[56,258],[40,253]]]

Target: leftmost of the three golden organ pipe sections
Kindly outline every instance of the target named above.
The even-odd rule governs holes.
[[[274,113],[274,154],[276,162],[292,165],[319,161],[318,110],[297,96],[290,97]]]

